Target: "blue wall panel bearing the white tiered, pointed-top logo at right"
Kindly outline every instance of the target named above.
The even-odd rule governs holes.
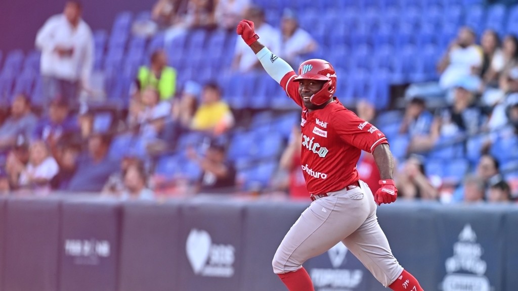
[[[503,213],[474,208],[437,209],[443,291],[502,290]]]

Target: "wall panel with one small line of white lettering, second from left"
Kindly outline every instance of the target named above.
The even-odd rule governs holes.
[[[117,290],[120,212],[112,200],[63,202],[60,290]]]

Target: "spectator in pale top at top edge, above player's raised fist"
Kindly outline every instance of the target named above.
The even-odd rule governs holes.
[[[214,12],[216,23],[224,30],[234,31],[250,3],[250,0],[218,0]]]

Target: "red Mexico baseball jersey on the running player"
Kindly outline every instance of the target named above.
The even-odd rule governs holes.
[[[387,143],[378,128],[357,117],[335,97],[319,110],[304,106],[294,71],[281,80],[286,94],[302,107],[301,166],[309,193],[338,191],[359,180],[356,164],[362,150],[371,153]]]

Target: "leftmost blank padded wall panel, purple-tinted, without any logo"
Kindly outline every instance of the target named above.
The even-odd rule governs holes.
[[[6,214],[2,290],[57,290],[60,200],[9,199]]]

